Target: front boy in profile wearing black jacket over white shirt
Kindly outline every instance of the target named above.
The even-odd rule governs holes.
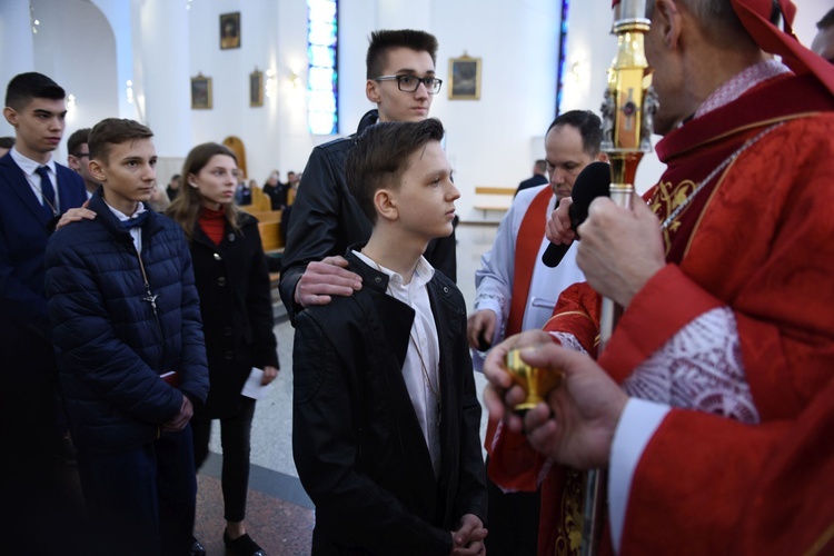
[[[478,554],[480,406],[454,282],[423,257],[460,193],[443,125],[380,122],[347,158],[373,222],[348,248],[364,287],[296,318],[292,445],[316,504],[312,554]]]

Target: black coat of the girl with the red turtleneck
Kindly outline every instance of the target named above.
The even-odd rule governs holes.
[[[240,212],[240,231],[226,225],[220,245],[197,226],[191,259],[206,336],[211,389],[203,418],[236,415],[252,367],[278,367],[269,272],[258,220]]]

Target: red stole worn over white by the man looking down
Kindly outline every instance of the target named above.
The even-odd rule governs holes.
[[[513,274],[513,298],[507,317],[507,332],[509,337],[522,331],[524,312],[527,307],[527,296],[530,291],[533,271],[536,269],[538,249],[542,247],[542,238],[547,226],[547,206],[553,197],[549,187],[543,188],[524,215],[522,226],[516,237],[516,260]]]

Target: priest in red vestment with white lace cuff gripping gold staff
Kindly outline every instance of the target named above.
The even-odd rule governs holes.
[[[667,170],[645,205],[592,205],[577,255],[588,285],[545,329],[596,355],[602,294],[625,312],[599,364],[629,395],[744,424],[795,418],[834,375],[834,69],[770,23],[770,0],[651,3]],[[539,554],[578,549],[576,484],[547,476]]]

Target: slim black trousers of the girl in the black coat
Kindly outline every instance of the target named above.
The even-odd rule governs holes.
[[[239,414],[220,420],[220,444],[224,451],[220,484],[224,492],[224,517],[227,522],[242,522],[246,517],[246,495],[249,490],[249,453],[255,416],[255,400],[241,397]],[[195,469],[208,457],[211,419],[191,419],[193,429]]]

